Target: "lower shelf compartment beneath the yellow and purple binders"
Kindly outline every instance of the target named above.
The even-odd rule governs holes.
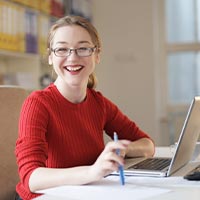
[[[20,85],[28,90],[40,88],[40,55],[0,50],[0,66],[2,84]]]

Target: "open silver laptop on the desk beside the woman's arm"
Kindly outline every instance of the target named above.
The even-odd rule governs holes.
[[[124,174],[167,177],[185,166],[193,155],[200,133],[200,96],[195,97],[186,116],[176,151],[172,158],[127,159]],[[133,164],[134,163],[134,164]]]

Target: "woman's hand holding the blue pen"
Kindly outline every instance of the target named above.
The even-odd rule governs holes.
[[[119,149],[120,152],[126,152],[129,144],[130,141],[128,140],[112,141],[106,144],[103,152],[90,169],[95,180],[99,180],[111,172],[117,171],[119,165],[124,165],[123,156],[117,155],[116,150]]]

